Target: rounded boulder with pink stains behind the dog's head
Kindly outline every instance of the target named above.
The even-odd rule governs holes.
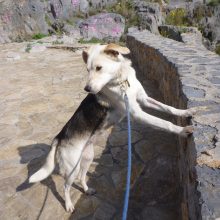
[[[80,33],[85,39],[119,40],[124,33],[125,19],[115,13],[102,13],[91,16],[80,24]]]

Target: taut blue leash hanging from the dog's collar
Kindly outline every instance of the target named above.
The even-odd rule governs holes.
[[[126,191],[125,191],[125,198],[124,198],[122,220],[127,219],[130,184],[131,184],[131,120],[130,120],[130,111],[129,111],[130,110],[129,101],[128,101],[128,96],[126,93],[124,95],[124,101],[125,101],[125,106],[126,106],[127,125],[128,125],[128,171],[127,171]]]

